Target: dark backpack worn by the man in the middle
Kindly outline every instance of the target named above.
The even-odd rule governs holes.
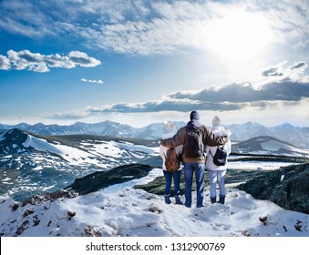
[[[186,144],[183,147],[187,158],[201,158],[204,153],[201,129],[186,128]]]

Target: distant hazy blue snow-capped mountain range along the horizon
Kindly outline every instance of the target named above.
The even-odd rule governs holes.
[[[185,122],[174,122],[174,124],[176,129],[186,125]],[[155,123],[144,128],[133,128],[129,125],[112,121],[104,121],[95,124],[77,122],[76,124],[69,126],[44,125],[42,123],[37,123],[36,125],[28,125],[26,123],[20,123],[18,125],[0,124],[0,129],[12,128],[20,128],[40,135],[88,134],[118,138],[157,139],[161,137],[164,131],[164,123]],[[260,136],[270,136],[273,138],[279,138],[294,145],[309,148],[309,128],[294,127],[288,123],[266,128],[256,122],[232,124],[227,125],[226,128],[229,128],[232,131],[233,141],[244,141]]]

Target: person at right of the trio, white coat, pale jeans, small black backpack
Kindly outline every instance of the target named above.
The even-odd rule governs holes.
[[[212,119],[212,128],[211,132],[216,137],[221,136],[228,136],[229,141],[223,146],[224,151],[226,151],[227,155],[229,156],[231,153],[231,131],[229,129],[224,128],[221,126],[221,119],[218,116],[213,117]],[[210,185],[211,185],[211,203],[217,202],[217,182],[219,185],[219,203],[225,203],[225,174],[226,169],[228,167],[228,163],[224,166],[217,166],[213,163],[213,156],[215,155],[217,147],[210,147],[207,146],[205,148],[206,152],[206,169],[210,178]]]

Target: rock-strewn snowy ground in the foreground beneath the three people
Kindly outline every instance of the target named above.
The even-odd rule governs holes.
[[[154,169],[156,176],[160,169]],[[156,172],[157,171],[157,172]],[[142,181],[152,179],[148,177]],[[309,215],[282,209],[227,189],[226,204],[187,209],[166,205],[162,196],[132,189],[130,182],[75,199],[19,206],[0,197],[0,235],[25,237],[308,237]],[[195,193],[193,193],[194,198]],[[14,210],[14,211],[13,211]]]

